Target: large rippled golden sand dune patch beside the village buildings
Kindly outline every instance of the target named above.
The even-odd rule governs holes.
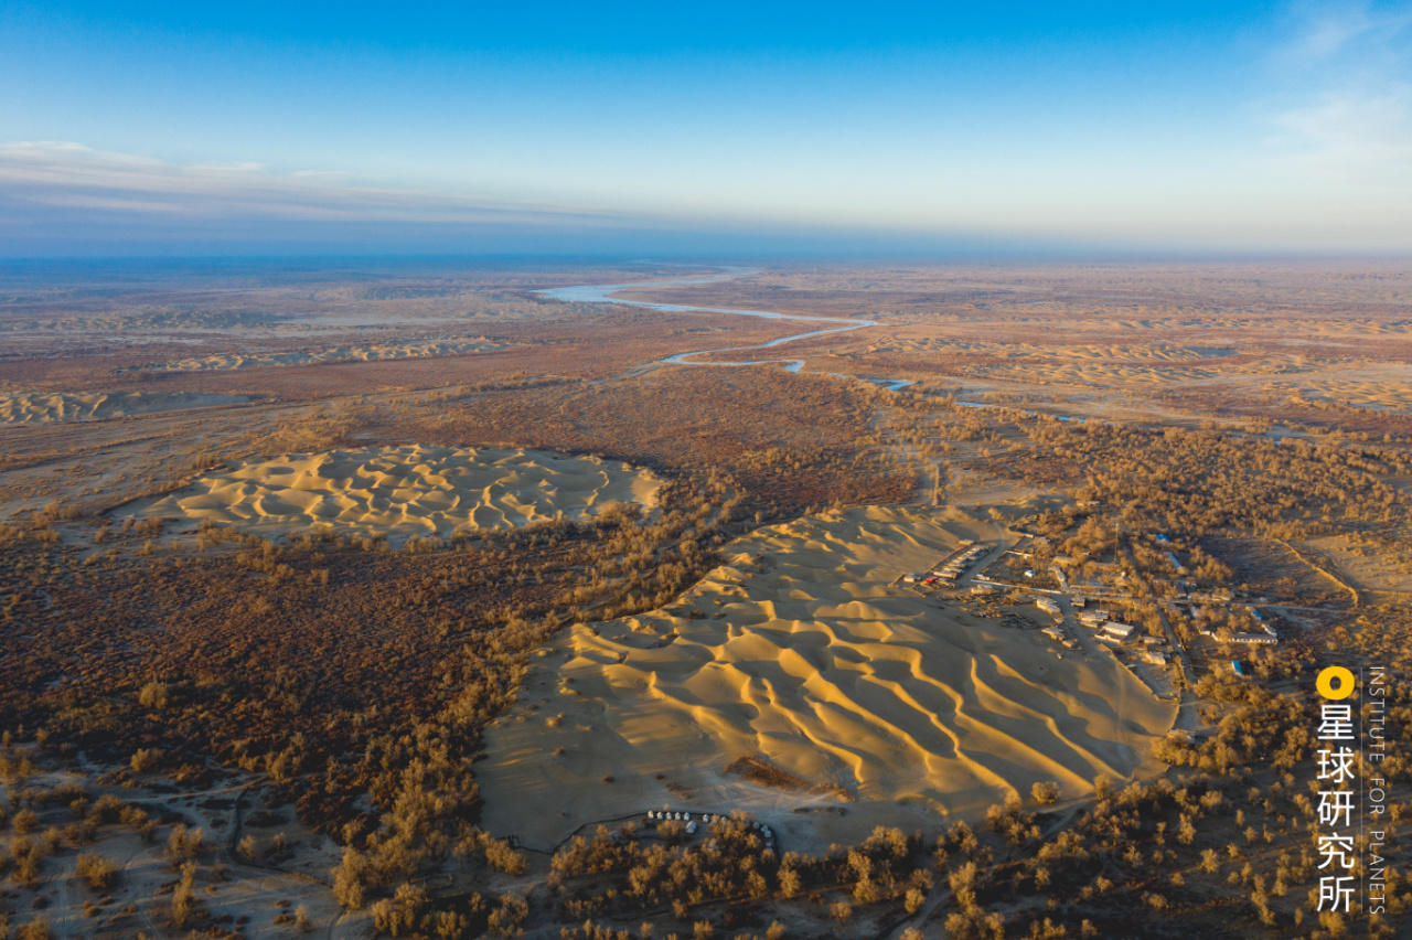
[[[666,783],[695,790],[685,809],[785,826],[785,805],[830,799],[781,803],[723,776],[741,755],[856,795],[861,831],[870,805],[971,814],[1038,781],[1076,796],[1138,773],[1175,710],[1111,658],[891,586],[1000,535],[957,508],[830,511],[734,542],[665,610],[575,627],[528,680],[537,704],[487,735],[487,824],[552,844],[589,819],[681,807]]]

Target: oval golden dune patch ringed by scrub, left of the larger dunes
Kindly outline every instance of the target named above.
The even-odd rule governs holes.
[[[292,529],[450,535],[539,519],[587,519],[611,502],[657,505],[662,480],[597,457],[535,450],[369,447],[295,453],[217,470],[123,515]]]

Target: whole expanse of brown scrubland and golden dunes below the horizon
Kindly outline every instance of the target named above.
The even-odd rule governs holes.
[[[884,322],[779,347],[843,378],[534,294],[659,274],[7,275],[0,936],[1405,933],[1404,271],[630,292]],[[1327,663],[1398,677],[1371,919]]]

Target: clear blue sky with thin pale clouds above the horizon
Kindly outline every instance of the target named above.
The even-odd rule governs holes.
[[[1412,3],[114,6],[0,6],[0,254],[1412,251]]]

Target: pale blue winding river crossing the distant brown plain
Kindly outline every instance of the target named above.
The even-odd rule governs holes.
[[[806,333],[795,333],[792,336],[781,336],[779,339],[770,340],[768,343],[761,343],[758,346],[726,346],[722,349],[696,349],[686,353],[676,353],[675,356],[668,356],[666,358],[657,360],[664,366],[770,366],[781,364],[785,371],[802,373],[803,360],[802,358],[750,358],[730,363],[702,363],[698,361],[698,356],[709,356],[712,353],[750,353],[761,349],[774,349],[777,346],[784,346],[785,343],[792,343],[795,340],[810,339],[815,336],[827,336],[829,333],[849,333],[851,330],[861,330],[868,326],[885,326],[878,320],[856,320],[844,319],[837,316],[802,316],[798,313],[772,313],[770,311],[737,311],[720,306],[682,306],[679,303],[651,303],[648,301],[627,301],[623,298],[614,298],[613,295],[620,291],[627,291],[628,288],[642,288],[642,287],[676,287],[679,284],[714,284],[717,281],[729,281],[730,278],[737,278],[746,274],[753,274],[753,271],[741,268],[729,268],[723,274],[709,274],[695,278],[681,278],[678,281],[642,281],[637,284],[583,284],[566,288],[551,288],[545,291],[538,291],[545,296],[554,298],[556,301],[566,301],[575,303],[617,303],[620,306],[642,306],[650,311],[662,311],[665,313],[736,313],[738,316],[758,316],[767,320],[802,320],[805,323],[833,323],[820,330],[809,330]],[[857,378],[857,375],[843,375],[840,373],[808,373],[813,375],[833,375],[836,378]],[[875,382],[884,388],[897,391],[898,388],[905,388],[912,384],[909,378],[864,378],[861,381]]]

